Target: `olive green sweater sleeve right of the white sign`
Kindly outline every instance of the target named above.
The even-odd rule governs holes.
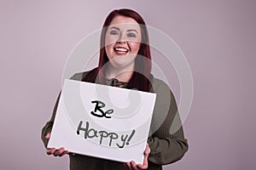
[[[148,161],[166,165],[180,160],[189,145],[184,139],[182,122],[178,116],[177,104],[170,88],[164,82],[154,86],[157,94],[151,122],[148,145],[151,150]]]

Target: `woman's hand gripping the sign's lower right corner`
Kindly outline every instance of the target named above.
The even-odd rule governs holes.
[[[131,170],[137,170],[137,169],[148,169],[148,155],[150,153],[150,148],[147,144],[146,149],[144,151],[144,160],[143,165],[142,164],[136,164],[135,161],[128,161],[125,163],[126,167],[129,167]]]

